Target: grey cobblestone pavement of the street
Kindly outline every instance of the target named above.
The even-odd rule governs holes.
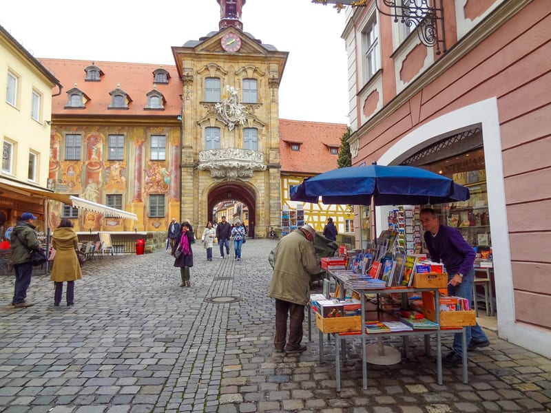
[[[1,276],[0,411],[550,411],[551,361],[492,333],[490,347],[469,354],[468,384],[460,367],[444,367],[437,385],[434,356],[410,338],[408,360],[368,365],[367,390],[357,340],[349,340],[337,394],[334,342],[320,364],[315,326],[306,352],[273,351],[265,293],[275,244],[247,240],[240,262],[221,259],[216,247],[207,262],[196,244],[191,288],[180,288],[165,251],[87,262],[71,307],[54,307],[53,283],[37,275],[28,296],[36,305],[8,308],[13,276]],[[450,344],[446,336],[444,352]]]

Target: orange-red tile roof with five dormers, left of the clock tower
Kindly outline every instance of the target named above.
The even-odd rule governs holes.
[[[62,59],[39,59],[41,63],[59,78],[63,85],[60,96],[52,99],[54,115],[103,115],[103,116],[178,116],[182,112],[182,83],[174,65],[150,65],[146,63],[120,63],[103,61],[76,61]],[[85,81],[85,68],[96,65],[103,72],[100,81]],[[156,83],[155,89],[163,94],[165,110],[144,110],[147,104],[146,94],[154,89],[153,71],[162,68],[169,72],[169,83]],[[76,86],[74,85],[76,83]],[[109,92],[120,88],[127,93],[132,102],[128,109],[109,109]],[[76,87],[90,98],[85,109],[65,109],[67,91]],[[54,92],[57,92],[55,90]]]

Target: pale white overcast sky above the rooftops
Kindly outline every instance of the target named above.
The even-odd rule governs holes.
[[[91,62],[174,65],[171,46],[218,31],[220,21],[216,0],[18,0],[1,9],[0,25],[35,57]],[[349,124],[344,11],[247,0],[241,20],[244,32],[289,52],[280,118]]]

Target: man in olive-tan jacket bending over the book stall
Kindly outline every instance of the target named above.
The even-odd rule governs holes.
[[[302,352],[302,321],[304,306],[310,299],[311,275],[321,268],[312,242],[315,230],[304,225],[282,237],[275,247],[273,276],[268,297],[275,298],[276,352]],[[289,314],[289,341],[287,341],[287,315]],[[287,346],[285,346],[287,341]]]

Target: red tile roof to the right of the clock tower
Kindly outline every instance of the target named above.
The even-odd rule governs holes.
[[[340,123],[280,119],[281,171],[314,175],[337,168],[338,156],[331,155],[330,147],[340,148],[345,132]],[[300,150],[291,150],[292,143],[300,144]]]

